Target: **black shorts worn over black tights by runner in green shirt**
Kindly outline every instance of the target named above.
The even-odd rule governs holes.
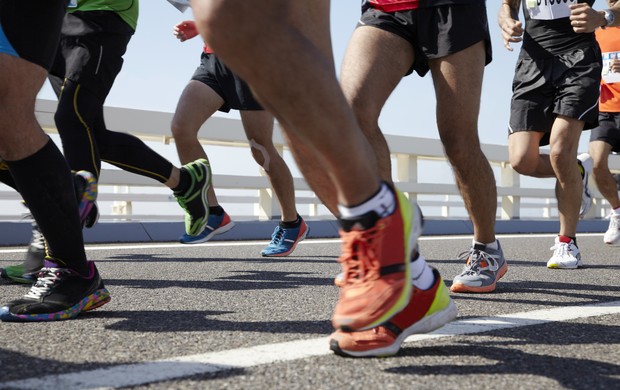
[[[67,14],[50,73],[105,98],[123,67],[133,30],[112,11]]]

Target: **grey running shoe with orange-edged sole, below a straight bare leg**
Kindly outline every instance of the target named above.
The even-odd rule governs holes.
[[[450,291],[488,293],[495,291],[497,281],[508,271],[499,241],[497,249],[476,244],[468,252],[459,255],[459,260],[467,260],[463,272],[454,277]]]

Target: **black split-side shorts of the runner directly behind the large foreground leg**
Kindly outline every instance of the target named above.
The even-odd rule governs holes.
[[[486,64],[492,59],[491,37],[486,4],[443,5],[408,11],[383,12],[368,8],[358,27],[372,26],[391,32],[411,43],[414,70],[420,76],[428,71],[428,60],[446,57],[480,41],[486,45]]]

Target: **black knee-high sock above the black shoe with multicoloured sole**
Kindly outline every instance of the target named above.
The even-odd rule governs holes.
[[[54,142],[7,161],[17,188],[47,241],[50,261],[88,275],[73,175]]]

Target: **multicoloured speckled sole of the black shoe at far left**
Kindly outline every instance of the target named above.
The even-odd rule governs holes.
[[[110,302],[110,292],[99,289],[91,295],[84,297],[79,303],[66,310],[48,314],[11,314],[7,307],[0,308],[0,320],[6,322],[44,322],[44,321],[64,321],[78,316],[82,312],[95,310]]]

